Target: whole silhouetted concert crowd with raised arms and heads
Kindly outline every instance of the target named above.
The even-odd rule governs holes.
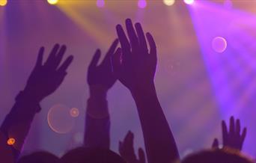
[[[213,146],[191,153],[180,159],[174,136],[156,94],[157,51],[153,36],[144,31],[140,23],[126,20],[126,31],[116,26],[118,39],[114,40],[103,61],[100,49],[94,54],[88,67],[87,81],[90,97],[85,114],[85,135],[82,147],[67,151],[58,157],[46,151],[19,156],[40,102],[54,93],[67,75],[73,61],[70,55],[63,61],[66,46],[56,44],[43,62],[44,47],[40,48],[34,70],[24,90],[16,96],[16,102],[0,128],[0,162],[3,163],[252,163],[241,153],[246,138],[246,128],[240,120],[230,118],[229,126],[222,121],[222,147],[214,139]],[[120,47],[118,48],[118,44]],[[61,64],[63,61],[63,64]],[[127,131],[119,142],[119,153],[110,150],[110,114],[107,93],[116,81],[131,93],[138,111],[144,138],[144,149],[135,152],[135,135]],[[7,144],[10,138],[15,143]],[[120,138],[121,139],[121,138]]]

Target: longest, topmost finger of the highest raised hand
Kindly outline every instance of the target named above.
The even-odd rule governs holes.
[[[129,37],[129,43],[132,46],[132,51],[134,51],[134,50],[138,49],[138,37],[133,28],[131,19],[126,19],[126,26],[127,26],[127,34]]]

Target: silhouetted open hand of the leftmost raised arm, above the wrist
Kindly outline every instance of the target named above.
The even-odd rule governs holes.
[[[66,46],[56,44],[52,52],[50,52],[47,61],[43,64],[44,47],[41,47],[37,57],[37,63],[28,78],[25,91],[33,95],[38,102],[44,97],[53,93],[63,82],[64,77],[67,75],[67,67],[73,61],[73,56],[70,55],[63,64],[60,65],[61,60],[66,51]]]

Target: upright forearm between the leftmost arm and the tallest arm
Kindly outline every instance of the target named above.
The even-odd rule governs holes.
[[[85,147],[110,147],[110,119],[106,92],[100,87],[91,89],[85,115]]]

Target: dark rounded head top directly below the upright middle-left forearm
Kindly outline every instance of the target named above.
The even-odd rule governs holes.
[[[100,148],[78,147],[68,151],[60,159],[61,163],[125,163],[117,153]]]

